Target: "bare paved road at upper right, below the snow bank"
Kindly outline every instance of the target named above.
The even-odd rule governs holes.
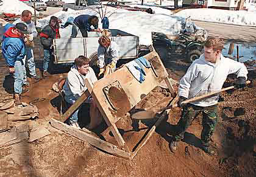
[[[232,24],[194,21],[194,23],[207,30],[209,36],[219,36],[228,41],[256,43],[256,27],[236,26]]]

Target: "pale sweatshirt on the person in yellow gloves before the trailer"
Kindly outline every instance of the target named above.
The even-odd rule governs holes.
[[[119,59],[119,47],[115,41],[111,41],[110,46],[105,48],[99,44],[98,47],[98,62],[97,65],[99,68],[103,68],[107,64],[114,61],[117,63]]]

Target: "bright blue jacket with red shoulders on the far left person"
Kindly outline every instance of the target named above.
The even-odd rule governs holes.
[[[20,60],[21,63],[23,63],[23,58],[26,54],[23,38],[13,33],[13,27],[10,27],[4,33],[4,36],[5,39],[2,42],[2,54],[4,55],[7,65],[13,67],[17,60]]]

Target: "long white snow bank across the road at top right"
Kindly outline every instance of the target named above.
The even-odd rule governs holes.
[[[225,24],[236,24],[243,26],[256,26],[256,12],[245,10],[220,10],[220,9],[185,9],[175,14],[191,19],[210,21]]]

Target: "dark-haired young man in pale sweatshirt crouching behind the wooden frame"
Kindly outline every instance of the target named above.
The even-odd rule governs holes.
[[[74,65],[68,72],[68,77],[63,86],[63,92],[65,94],[65,101],[68,103],[68,107],[73,105],[76,100],[87,90],[85,86],[85,78],[89,78],[92,83],[98,79],[94,74],[93,69],[89,66],[89,59],[80,55],[74,60]],[[92,129],[97,127],[102,121],[101,113],[94,103],[92,97],[88,97],[84,102],[90,105],[90,123],[85,128]],[[69,117],[68,123],[72,127],[80,128],[78,121],[78,112],[82,105]]]

